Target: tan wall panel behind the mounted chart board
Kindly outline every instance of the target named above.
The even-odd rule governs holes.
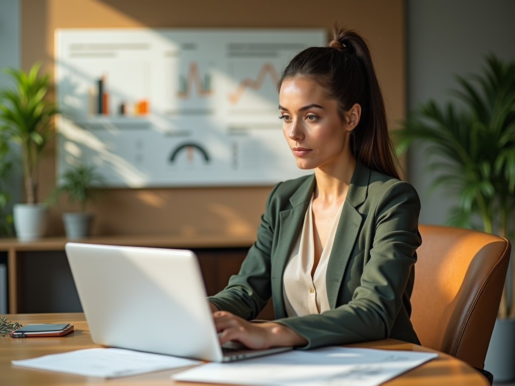
[[[54,30],[70,27],[323,27],[335,21],[369,41],[387,99],[390,120],[405,115],[405,29],[402,0],[22,0],[22,66],[43,60],[53,71]],[[55,153],[49,149],[39,199],[55,184]],[[245,188],[110,189],[90,209],[95,234],[252,235],[269,186]],[[62,234],[52,209],[52,234]]]

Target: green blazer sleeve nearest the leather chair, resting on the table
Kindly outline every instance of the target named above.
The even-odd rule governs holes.
[[[420,201],[413,186],[396,181],[385,189],[373,215],[375,233],[361,283],[352,300],[321,314],[284,318],[307,339],[303,349],[388,338],[402,307],[409,273],[422,240]]]

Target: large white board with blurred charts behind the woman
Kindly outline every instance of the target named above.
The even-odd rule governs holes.
[[[297,168],[280,74],[322,29],[58,29],[57,172],[111,187],[269,185]]]

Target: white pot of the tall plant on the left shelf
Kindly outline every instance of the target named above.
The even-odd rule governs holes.
[[[14,204],[12,211],[18,240],[32,241],[44,236],[48,213],[46,204]]]

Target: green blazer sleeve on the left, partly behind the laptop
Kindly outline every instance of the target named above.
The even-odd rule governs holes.
[[[268,195],[256,241],[239,273],[231,276],[223,291],[208,297],[219,310],[232,312],[246,320],[255,319],[271,296],[270,255],[274,238],[272,198],[280,185],[274,186]]]

